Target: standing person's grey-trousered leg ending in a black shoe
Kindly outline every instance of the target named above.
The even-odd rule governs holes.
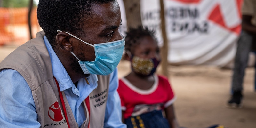
[[[229,107],[242,107],[242,90],[243,90],[243,80],[244,80],[244,72],[248,63],[248,55],[251,51],[252,45],[252,36],[246,32],[242,32],[238,43],[237,43],[237,51],[235,58],[235,67],[233,69],[233,77],[232,77],[232,97],[228,101]]]

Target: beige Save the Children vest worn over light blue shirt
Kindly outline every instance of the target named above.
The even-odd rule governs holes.
[[[14,50],[0,63],[0,70],[14,69],[24,77],[32,91],[41,128],[68,128],[43,36],[43,31],[38,32],[35,39]],[[88,128],[88,124],[90,128],[104,126],[109,76],[97,76],[98,87],[89,95],[90,116],[85,102],[83,103],[86,120],[81,128]],[[71,128],[78,128],[64,92],[62,94],[69,125]]]

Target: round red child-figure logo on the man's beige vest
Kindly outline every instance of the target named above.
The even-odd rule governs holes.
[[[60,109],[60,104],[58,102],[55,102],[54,104],[49,107],[48,116],[53,121],[61,121],[63,119],[63,115]]]

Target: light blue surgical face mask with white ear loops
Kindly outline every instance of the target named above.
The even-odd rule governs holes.
[[[57,32],[61,31],[57,30]],[[124,51],[124,37],[121,40],[92,45],[68,32],[66,33],[85,44],[94,47],[96,56],[94,61],[81,61],[73,52],[70,51],[70,53],[79,60],[78,63],[80,64],[84,74],[108,75],[115,70]]]

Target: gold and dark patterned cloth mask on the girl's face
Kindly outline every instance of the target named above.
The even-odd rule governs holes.
[[[133,56],[131,59],[132,70],[140,75],[150,76],[156,72],[156,68],[160,60],[156,58],[143,59],[138,56]]]

